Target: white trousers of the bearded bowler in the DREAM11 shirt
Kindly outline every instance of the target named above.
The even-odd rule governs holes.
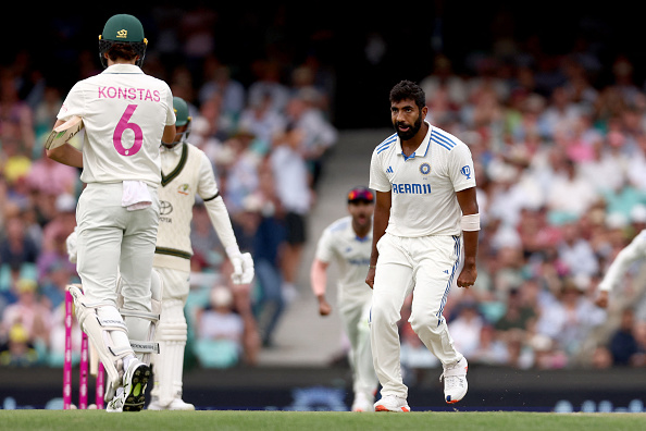
[[[382,396],[408,397],[401,379],[398,321],[406,297],[413,293],[409,322],[443,365],[462,358],[454,347],[442,315],[460,261],[460,236],[400,237],[384,234],[374,279],[371,342]]]

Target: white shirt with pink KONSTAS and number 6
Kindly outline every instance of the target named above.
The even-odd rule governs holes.
[[[159,145],[175,124],[173,95],[166,83],[133,64],[114,64],[72,87],[59,120],[83,118],[84,183],[161,181]]]

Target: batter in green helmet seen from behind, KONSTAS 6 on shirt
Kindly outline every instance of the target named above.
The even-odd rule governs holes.
[[[156,349],[158,317],[151,285],[159,283],[151,282],[161,183],[159,145],[173,140],[175,114],[169,85],[139,67],[147,45],[139,20],[114,15],[99,39],[101,61],[108,67],[74,85],[54,125],[80,118],[83,148],[57,143],[66,135],[53,133],[47,155],[83,168],[86,187],[76,223],[84,292],[70,291],[78,321],[108,372],[107,409],[138,411],[150,377],[145,360]]]

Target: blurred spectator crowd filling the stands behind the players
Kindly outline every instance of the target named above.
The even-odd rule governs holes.
[[[264,52],[250,59],[253,78],[243,83],[212,53],[212,20],[201,8],[178,20],[181,47],[160,24],[144,69],[189,103],[188,140],[211,159],[240,248],[254,258],[254,283],[231,285],[226,256],[196,205],[187,354],[203,367],[256,365],[298,292],[303,247],[315,241],[307,222],[338,138],[335,76],[314,54]],[[95,57],[79,48],[77,78],[99,72]],[[607,310],[594,305],[610,262],[646,227],[644,83],[621,56],[604,85],[591,52],[492,54],[475,64],[458,73],[437,54],[420,81],[427,120],[470,146],[479,184],[477,283],[454,288],[445,309],[458,349],[472,365],[521,369],[646,366],[641,262]],[[78,171],[42,151],[69,88],[47,76],[23,51],[0,70],[1,365],[62,365],[63,290],[78,281],[65,251]],[[439,365],[410,330],[408,307],[401,354],[414,383]]]

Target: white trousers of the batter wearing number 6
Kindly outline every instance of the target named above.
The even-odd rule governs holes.
[[[86,298],[116,307],[116,281],[124,284],[123,307],[151,312],[150,274],[157,243],[159,200],[148,187],[152,205],[128,211],[122,207],[122,183],[87,184],[78,199],[76,269]]]

